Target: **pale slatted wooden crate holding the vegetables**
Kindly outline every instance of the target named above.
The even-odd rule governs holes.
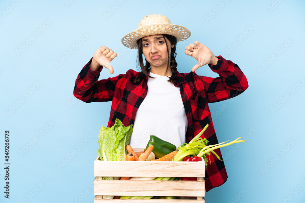
[[[141,148],[135,152],[143,151]],[[94,161],[95,203],[204,203],[205,163],[199,162],[129,162]],[[198,181],[178,180],[102,180],[102,177],[197,177]],[[177,200],[166,199],[102,199],[102,195],[127,196],[178,196]],[[185,199],[184,197],[195,197]],[[184,198],[184,199],[183,199]]]

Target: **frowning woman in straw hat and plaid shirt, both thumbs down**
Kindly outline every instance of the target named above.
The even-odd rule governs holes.
[[[248,88],[248,82],[236,64],[216,57],[199,41],[185,47],[185,54],[195,58],[198,64],[189,73],[179,73],[176,44],[190,34],[185,27],[171,24],[166,16],[145,16],[137,30],[122,38],[124,46],[138,49],[141,72],[128,70],[125,74],[98,80],[103,68],[113,74],[110,62],[117,56],[108,47],[101,46],[78,75],[74,96],[87,103],[112,101],[108,127],[116,118],[125,126],[133,124],[130,145],[134,148],[145,148],[150,135],[178,147],[188,143],[206,124],[209,127],[202,137],[211,145],[217,144],[208,103],[239,95]],[[219,77],[196,75],[195,70],[206,64]],[[219,149],[215,151],[221,156]],[[206,191],[220,186],[228,177],[223,162],[214,155],[210,160]]]

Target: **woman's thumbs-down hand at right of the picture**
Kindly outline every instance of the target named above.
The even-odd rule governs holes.
[[[195,44],[189,44],[185,47],[184,53],[192,56],[198,61],[198,64],[194,65],[192,72],[196,71],[197,68],[206,64],[216,65],[218,58],[212,53],[212,51],[204,44],[195,41]]]

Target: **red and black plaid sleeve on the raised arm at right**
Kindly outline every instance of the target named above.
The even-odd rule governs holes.
[[[238,65],[230,60],[218,56],[217,65],[209,64],[213,72],[219,74],[217,78],[201,76],[206,89],[208,103],[230,99],[241,94],[248,88],[246,76]]]

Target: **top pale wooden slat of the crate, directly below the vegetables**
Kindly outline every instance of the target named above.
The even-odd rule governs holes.
[[[183,161],[94,161],[94,176],[205,177],[205,163]]]

